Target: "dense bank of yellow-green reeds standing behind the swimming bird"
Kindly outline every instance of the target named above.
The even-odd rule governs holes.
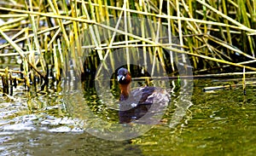
[[[136,58],[130,51],[136,49],[130,47],[153,55],[150,61],[160,61],[170,74],[177,72],[177,53],[189,55],[195,73],[256,71],[256,0],[3,0],[0,10],[0,75],[6,94],[14,79],[28,88],[40,84],[39,90],[48,90],[49,80],[61,83],[70,68],[79,74],[108,68],[108,57],[114,69],[115,49],[123,49],[120,55],[127,55],[129,65]],[[118,28],[120,17],[124,30]],[[131,27],[129,17],[166,26],[168,34],[148,35],[156,25],[149,24],[148,30]],[[109,19],[116,27],[108,25]],[[99,34],[108,39],[101,42]],[[164,43],[161,37],[179,42]]]

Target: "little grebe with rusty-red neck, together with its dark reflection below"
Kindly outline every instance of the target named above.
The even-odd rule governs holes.
[[[168,105],[170,95],[166,90],[146,86],[131,91],[131,73],[124,67],[119,69],[117,80],[121,92],[120,123],[130,123],[148,113],[150,115],[147,115],[146,122],[152,124],[150,118],[163,113],[163,109]]]

